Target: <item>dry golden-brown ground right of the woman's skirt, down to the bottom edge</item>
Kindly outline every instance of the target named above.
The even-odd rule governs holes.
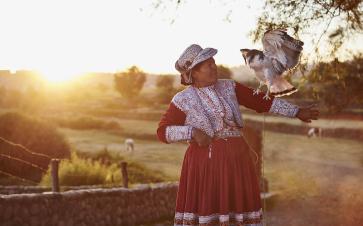
[[[268,225],[362,225],[361,143],[266,133],[265,176],[270,190]]]

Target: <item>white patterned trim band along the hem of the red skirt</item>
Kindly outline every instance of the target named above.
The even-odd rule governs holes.
[[[262,226],[262,208],[258,211],[245,213],[211,214],[199,216],[195,213],[176,212],[174,226],[229,226],[229,225],[254,225]]]

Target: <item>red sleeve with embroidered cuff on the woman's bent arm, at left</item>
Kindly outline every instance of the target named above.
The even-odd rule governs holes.
[[[185,118],[185,113],[170,103],[156,131],[159,140],[167,144],[191,140],[193,127],[184,125]]]

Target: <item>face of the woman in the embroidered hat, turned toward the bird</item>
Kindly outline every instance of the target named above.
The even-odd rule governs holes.
[[[192,71],[196,85],[212,85],[217,81],[217,65],[214,58],[203,61]]]

